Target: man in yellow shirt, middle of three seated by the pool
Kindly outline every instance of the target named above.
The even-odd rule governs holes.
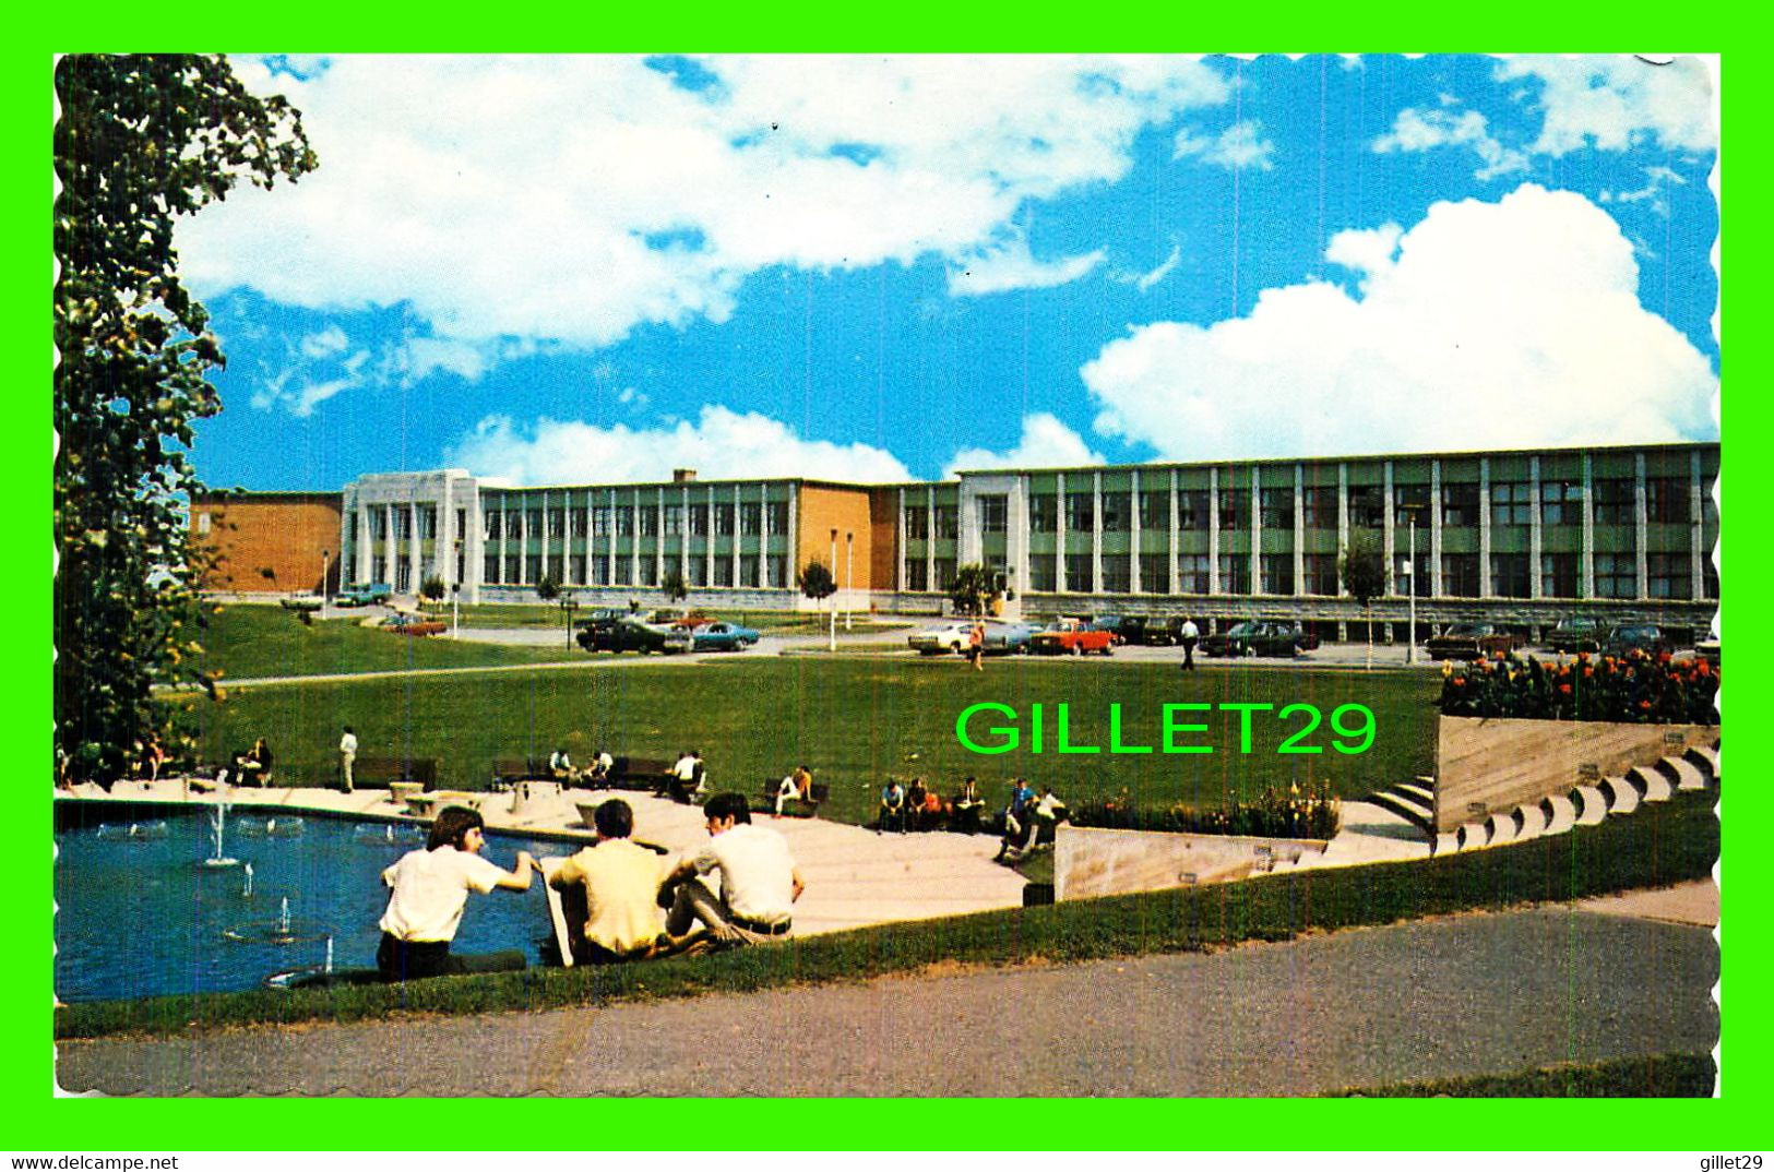
[[[575,959],[589,965],[637,961],[669,947],[660,940],[665,913],[658,906],[660,883],[669,860],[628,839],[635,814],[621,798],[610,798],[591,816],[598,840],[555,871],[550,883],[585,887],[585,938]]]

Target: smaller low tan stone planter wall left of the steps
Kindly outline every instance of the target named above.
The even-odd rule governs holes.
[[[1322,839],[1105,830],[1061,824],[1054,835],[1054,897],[1093,899],[1167,887],[1226,883],[1265,872],[1283,858],[1323,853]]]

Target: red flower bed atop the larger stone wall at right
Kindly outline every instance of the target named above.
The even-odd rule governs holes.
[[[1440,711],[1444,716],[1715,725],[1717,693],[1717,667],[1707,660],[1676,661],[1668,652],[1577,654],[1550,663],[1535,656],[1499,656],[1444,667]]]

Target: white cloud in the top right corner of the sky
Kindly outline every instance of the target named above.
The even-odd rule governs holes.
[[[1536,154],[1570,154],[1582,147],[1625,151],[1657,140],[1676,151],[1712,151],[1719,128],[1712,117],[1712,76],[1698,57],[1653,66],[1637,57],[1515,57],[1497,78],[1542,82],[1545,113]]]

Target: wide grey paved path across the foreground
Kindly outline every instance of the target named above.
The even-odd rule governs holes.
[[[62,1043],[59,1080],[153,1096],[1311,1094],[1705,1051],[1717,972],[1703,927],[1549,908],[1217,956]]]

